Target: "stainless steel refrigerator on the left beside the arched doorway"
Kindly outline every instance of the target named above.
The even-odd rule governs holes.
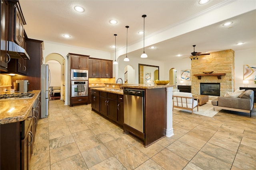
[[[41,65],[41,117],[48,117],[50,70],[48,64]]]

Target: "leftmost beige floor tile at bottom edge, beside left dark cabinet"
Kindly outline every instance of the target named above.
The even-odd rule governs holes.
[[[30,170],[37,170],[50,166],[50,154],[49,151],[42,152],[40,154],[34,154],[30,160]]]

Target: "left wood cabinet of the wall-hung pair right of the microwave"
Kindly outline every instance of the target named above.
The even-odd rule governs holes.
[[[101,60],[89,58],[89,78],[101,77]]]

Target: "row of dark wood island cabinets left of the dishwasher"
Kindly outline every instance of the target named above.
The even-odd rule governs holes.
[[[92,90],[92,109],[116,123],[124,123],[124,95]]]

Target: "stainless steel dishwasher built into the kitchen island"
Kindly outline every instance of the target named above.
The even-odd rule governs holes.
[[[144,90],[124,89],[124,123],[142,133]]]

